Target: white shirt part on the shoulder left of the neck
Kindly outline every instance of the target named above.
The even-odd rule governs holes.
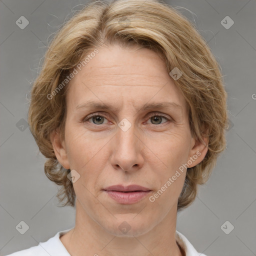
[[[19,250],[5,256],[70,256],[59,237],[71,228],[57,232],[53,237],[45,242],[27,249]]]

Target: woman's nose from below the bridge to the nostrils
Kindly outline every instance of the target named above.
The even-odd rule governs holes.
[[[115,169],[124,171],[138,170],[143,166],[144,158],[142,150],[144,147],[141,139],[134,133],[134,125],[124,131],[117,129],[112,141],[111,165]]]

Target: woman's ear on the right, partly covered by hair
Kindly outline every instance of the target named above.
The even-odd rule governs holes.
[[[203,160],[203,158],[205,157],[208,151],[207,146],[208,146],[207,136],[203,137],[202,141],[200,141],[197,137],[192,137],[189,157],[187,158],[188,168],[191,168],[197,165]]]

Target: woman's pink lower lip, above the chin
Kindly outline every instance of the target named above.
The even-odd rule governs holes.
[[[119,203],[123,204],[131,204],[135,203],[142,198],[144,198],[149,192],[148,191],[131,191],[131,192],[121,192],[121,191],[113,191],[113,190],[104,190],[107,194],[116,200]]]

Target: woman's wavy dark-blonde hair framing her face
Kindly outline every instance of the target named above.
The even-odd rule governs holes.
[[[55,35],[31,89],[28,110],[30,131],[48,158],[44,172],[61,185],[57,194],[59,201],[64,201],[61,206],[74,206],[75,193],[67,178],[70,169],[59,164],[50,142],[50,133],[56,128],[64,137],[68,83],[56,89],[88,53],[113,43],[149,48],[163,58],[168,71],[176,67],[182,72],[174,82],[186,100],[190,130],[201,141],[203,136],[208,137],[208,151],[199,164],[187,168],[178,198],[180,210],[195,199],[197,184],[207,181],[218,154],[225,148],[226,92],[221,69],[194,25],[171,6],[156,0],[89,2]]]

